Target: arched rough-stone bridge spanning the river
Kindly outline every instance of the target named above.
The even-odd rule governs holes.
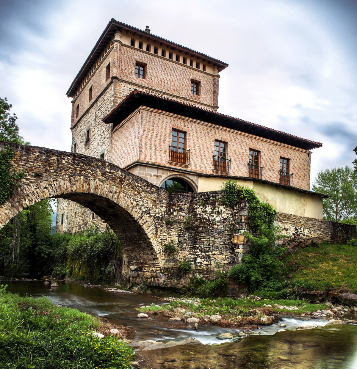
[[[0,207],[0,228],[40,200],[71,200],[106,221],[120,238],[130,269],[149,272],[148,279],[153,279],[167,242],[163,225],[169,194],[164,189],[91,156],[0,142],[0,149],[8,147],[16,152],[12,169],[23,170],[25,177]]]

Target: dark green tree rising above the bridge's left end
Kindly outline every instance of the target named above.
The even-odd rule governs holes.
[[[7,98],[0,97],[0,141],[14,142],[16,144],[28,145],[20,136],[20,128],[16,124],[17,116],[9,113],[12,105],[7,102]]]

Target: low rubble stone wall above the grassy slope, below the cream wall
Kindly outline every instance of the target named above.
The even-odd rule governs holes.
[[[298,246],[311,246],[314,242],[343,244],[351,238],[356,238],[356,225],[284,213],[278,213],[274,223],[280,225],[284,233],[290,236],[282,240],[289,252],[295,251]]]

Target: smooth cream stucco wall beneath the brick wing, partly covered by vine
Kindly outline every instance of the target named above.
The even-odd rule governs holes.
[[[225,180],[219,177],[200,177],[198,192],[217,191]],[[278,213],[322,219],[322,197],[267,183],[249,180],[237,180],[237,182],[254,190],[259,200],[268,201]]]

